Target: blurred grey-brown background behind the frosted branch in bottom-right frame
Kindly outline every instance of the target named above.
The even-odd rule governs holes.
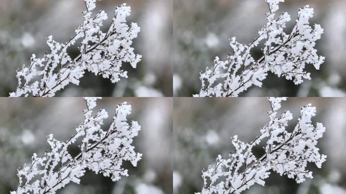
[[[317,109],[313,122],[322,122],[326,127],[318,148],[327,155],[327,161],[321,169],[309,164],[314,178],[301,184],[272,172],[265,186],[255,184],[244,194],[346,193],[346,99],[289,98],[279,110],[293,114],[287,130],[293,130],[300,107],[309,103]],[[233,149],[233,135],[250,142],[260,134],[260,128],[268,122],[267,111],[271,110],[265,98],[175,98],[174,107],[173,188],[180,194],[201,191],[201,171],[214,165],[219,154],[228,156]]]

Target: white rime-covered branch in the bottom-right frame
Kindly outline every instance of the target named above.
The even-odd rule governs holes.
[[[294,130],[288,132],[285,128],[288,121],[292,120],[292,114],[284,111],[277,116],[280,103],[286,98],[268,100],[272,111],[268,112],[269,122],[261,129],[261,134],[250,143],[238,140],[237,135],[233,136],[234,152],[231,152],[229,158],[219,155],[215,167],[208,166],[208,169],[202,172],[203,189],[199,194],[241,193],[255,183],[265,185],[265,179],[271,171],[287,175],[301,183],[306,177],[313,178],[312,172],[306,169],[308,162],[321,168],[326,156],[321,155],[316,146],[325,127],[322,123],[313,125],[311,121],[316,108],[311,104],[302,107]],[[268,139],[264,148],[265,154],[257,158],[252,149],[263,139]]]

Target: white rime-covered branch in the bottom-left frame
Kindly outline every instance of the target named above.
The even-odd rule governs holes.
[[[46,151],[42,158],[33,154],[31,164],[24,164],[18,170],[19,186],[11,194],[54,194],[70,182],[79,184],[86,169],[117,181],[121,175],[128,176],[127,169],[121,167],[123,161],[137,166],[142,154],[135,152],[132,143],[141,127],[136,121],[127,122],[131,106],[126,103],[118,105],[110,127],[103,130],[101,125],[108,113],[102,109],[93,114],[97,98],[84,99],[88,109],[83,111],[85,120],[75,129],[75,134],[65,142],[50,134],[47,139],[50,152]],[[80,137],[80,152],[72,156],[68,147]]]

